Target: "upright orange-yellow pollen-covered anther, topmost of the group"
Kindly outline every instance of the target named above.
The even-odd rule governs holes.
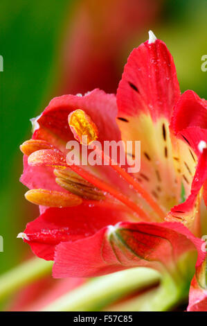
[[[98,138],[98,128],[91,117],[83,110],[75,110],[69,114],[69,126],[75,139],[82,145],[89,145]]]

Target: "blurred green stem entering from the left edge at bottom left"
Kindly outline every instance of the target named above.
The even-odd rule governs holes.
[[[33,258],[0,276],[0,300],[22,286],[51,273],[53,261]]]

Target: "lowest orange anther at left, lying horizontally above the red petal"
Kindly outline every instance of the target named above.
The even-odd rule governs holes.
[[[46,189],[32,189],[24,196],[30,203],[48,207],[73,207],[82,203],[82,199],[74,194]]]

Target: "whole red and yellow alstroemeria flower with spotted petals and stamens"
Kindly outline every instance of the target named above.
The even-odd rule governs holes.
[[[93,121],[89,128],[98,130],[100,142],[140,140],[141,171],[69,166],[66,142],[77,138],[69,126],[77,110]],[[42,214],[19,237],[35,255],[55,261],[54,277],[148,266],[189,280],[195,253],[199,272],[206,256],[199,205],[207,178],[207,104],[192,91],[180,94],[165,43],[150,32],[132,51],[117,96],[95,89],[54,98],[33,126],[33,139],[21,145],[21,182]]]

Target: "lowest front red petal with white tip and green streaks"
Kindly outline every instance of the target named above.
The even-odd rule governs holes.
[[[197,249],[201,264],[201,240],[181,223],[120,223],[92,237],[60,243],[55,250],[54,277],[91,277],[134,266],[161,270],[174,264],[188,250]]]

